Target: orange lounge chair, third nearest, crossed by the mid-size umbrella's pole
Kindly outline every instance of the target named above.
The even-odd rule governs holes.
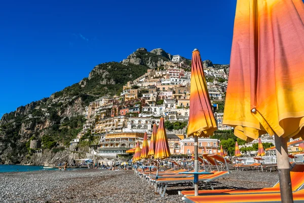
[[[200,175],[199,176],[199,182],[202,182],[205,185],[205,188],[207,189],[207,185],[209,184],[209,186],[211,187],[211,189],[213,189],[212,185],[211,185],[211,181],[214,181],[218,178],[221,178],[223,176],[226,176],[229,174],[229,172],[226,171],[215,171],[213,172],[214,174],[211,175]],[[166,193],[166,189],[168,184],[176,184],[176,183],[193,183],[194,182],[194,177],[188,177],[188,178],[164,178],[164,179],[160,179],[160,180],[154,180],[154,186],[157,189],[157,191],[159,191],[159,193],[164,196]]]

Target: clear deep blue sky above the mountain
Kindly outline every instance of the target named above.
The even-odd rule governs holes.
[[[227,64],[236,0],[3,1],[0,117],[139,47]]]

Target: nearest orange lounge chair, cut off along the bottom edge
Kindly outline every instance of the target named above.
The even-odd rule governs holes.
[[[298,190],[292,193],[293,202],[304,202],[304,189]],[[207,196],[186,196],[182,197],[186,203],[255,203],[255,202],[269,202],[279,203],[281,202],[281,194],[278,193],[262,193],[262,194],[232,194],[226,195],[207,195]]]

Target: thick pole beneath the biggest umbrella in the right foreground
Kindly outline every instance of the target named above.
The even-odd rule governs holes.
[[[275,134],[276,154],[280,180],[281,200],[283,203],[293,202],[287,142],[284,138]]]

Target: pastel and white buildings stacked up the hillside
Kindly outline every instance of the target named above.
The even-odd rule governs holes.
[[[216,70],[210,64],[205,65],[205,76],[209,96],[212,101],[220,102],[227,86],[227,73],[224,69]],[[101,156],[125,154],[126,150],[135,147],[137,141],[142,144],[143,133],[150,136],[153,124],[159,124],[164,117],[169,122],[187,122],[190,106],[191,66],[186,60],[174,55],[157,69],[147,72],[129,81],[123,86],[119,96],[103,96],[86,107],[87,118],[78,139],[85,133],[100,136],[97,146],[92,146],[92,153]],[[217,104],[214,110],[217,111]],[[219,129],[222,125],[222,114],[215,114]],[[190,154],[194,151],[193,139],[184,139],[185,128],[175,133],[167,133],[171,154]],[[73,140],[71,149],[77,149],[79,140]],[[199,153],[206,146],[208,153],[217,153],[218,140],[199,139]]]

